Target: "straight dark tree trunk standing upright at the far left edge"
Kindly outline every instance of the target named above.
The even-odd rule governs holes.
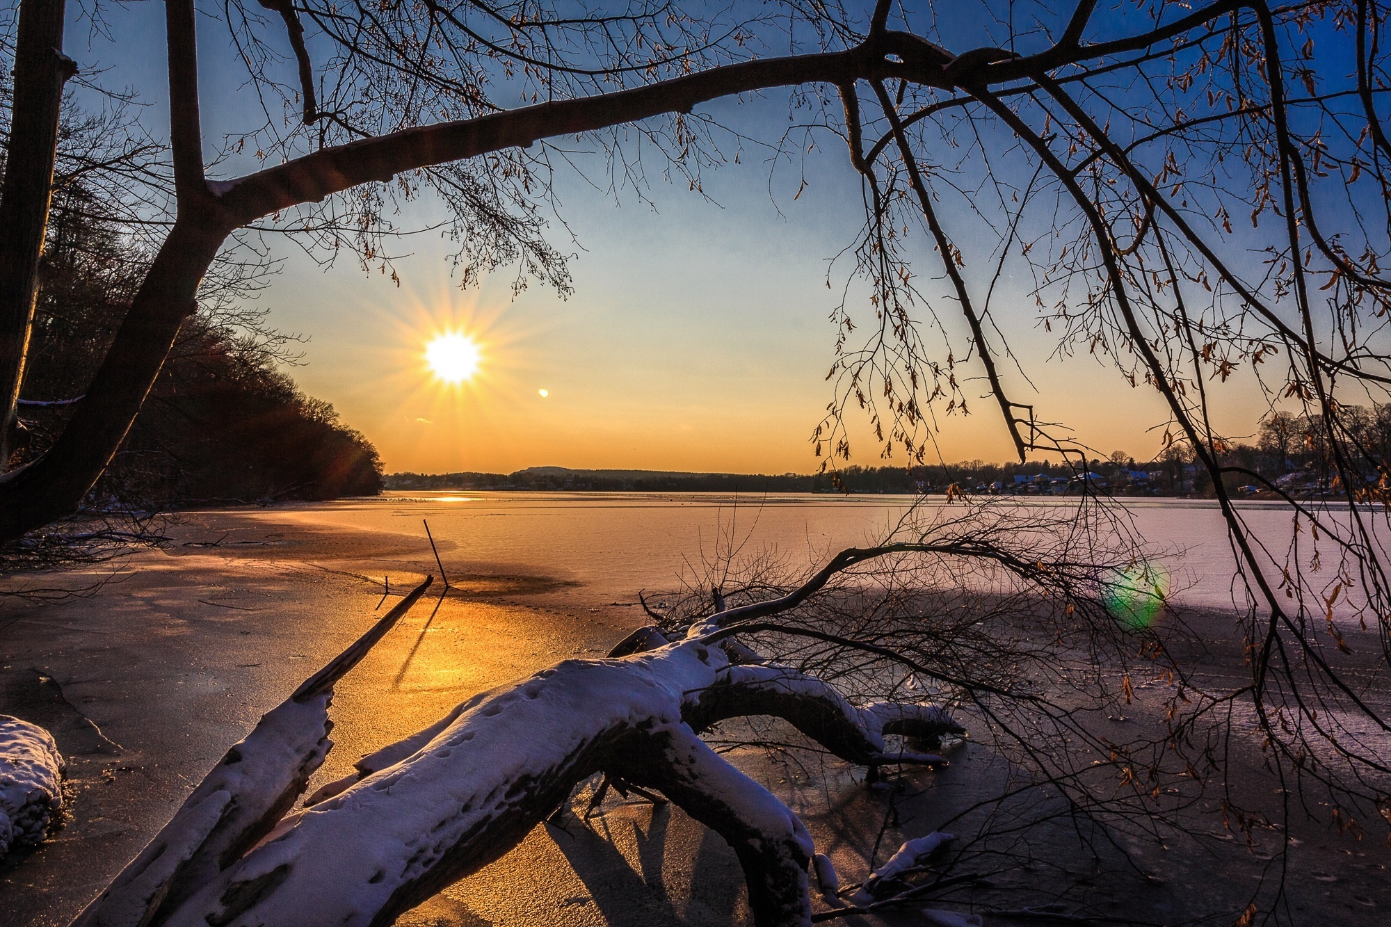
[[[67,0],[24,0],[14,54],[14,111],[0,189],[0,472],[8,469],[24,358],[49,224],[63,85],[77,72],[63,54]]]

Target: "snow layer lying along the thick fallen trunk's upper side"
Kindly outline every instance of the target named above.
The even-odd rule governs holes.
[[[684,728],[683,693],[711,685],[725,665],[716,647],[673,644],[623,660],[568,660],[470,699],[428,742],[417,746],[416,735],[395,745],[394,753],[410,753],[307,809],[288,832],[211,880],[167,923],[307,923],[305,912],[312,910],[312,923],[369,924],[398,889],[460,841],[479,838],[499,820],[505,830],[509,811],[527,799],[524,784],[563,779],[591,761],[590,753],[613,732]],[[766,798],[771,803],[743,795],[732,800],[775,827],[800,827],[780,802]],[[259,878],[281,881],[252,910],[224,908],[228,888]]]

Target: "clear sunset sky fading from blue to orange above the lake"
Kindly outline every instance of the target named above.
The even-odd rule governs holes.
[[[161,56],[127,54],[132,43],[160,47],[163,4],[108,10],[110,39],[68,26],[67,53],[79,65],[108,68],[107,86],[138,89],[145,120],[166,118]],[[255,120],[213,24],[200,39],[206,134]],[[733,124],[786,124],[785,95],[701,107]],[[757,152],[708,175],[707,198],[654,182],[654,205],[615,198],[574,174],[556,177],[562,214],[552,241],[573,253],[574,292],[540,284],[513,295],[512,274],[472,290],[451,277],[448,242],[426,232],[398,245],[399,285],[363,273],[351,255],[323,269],[285,242],[284,263],[259,298],[268,322],[302,335],[303,360],[291,370],[306,393],[331,402],[342,420],[378,448],[387,472],[512,472],[526,466],[672,469],[697,472],[814,472],[810,437],[832,398],[837,296],[826,260],[853,241],[861,221],[858,180],[842,150],[808,161],[808,185],[786,164]],[[654,207],[655,206],[655,207]],[[417,205],[428,223],[430,202]],[[951,221],[949,214],[947,221]],[[933,255],[924,255],[924,267]],[[1049,359],[1021,281],[1006,280],[1002,327],[1017,340],[1036,393],[1013,372],[1006,381],[1040,419],[1066,420],[1103,454],[1148,459],[1166,420],[1153,390],[1132,388],[1092,358]],[[839,285],[839,284],[837,284]],[[947,308],[950,315],[951,309]],[[424,362],[428,341],[465,333],[481,363],[451,386]],[[960,335],[960,333],[954,333]],[[964,338],[961,338],[964,344]],[[979,374],[979,370],[972,373]],[[1239,377],[1219,387],[1231,409],[1219,422],[1253,430],[1255,391]],[[541,395],[541,390],[547,395]],[[968,383],[970,416],[940,419],[935,438],[947,462],[1004,461],[1013,447],[983,383]],[[883,461],[862,416],[851,415],[850,464]],[[1155,430],[1155,426],[1159,426]]]

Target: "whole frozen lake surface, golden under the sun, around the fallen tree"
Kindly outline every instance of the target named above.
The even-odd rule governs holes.
[[[1035,518],[1066,518],[1077,505],[1004,502]],[[559,660],[605,653],[643,624],[633,604],[638,589],[673,589],[702,557],[723,551],[726,539],[744,553],[776,548],[796,572],[830,551],[883,537],[911,504],[894,496],[736,501],[709,494],[412,493],[185,512],[159,550],[43,579],[74,586],[113,580],[90,597],[58,605],[0,601],[0,710],[54,731],[70,759],[74,793],[72,818],[58,835],[32,857],[0,867],[0,923],[67,924],[230,743],[369,626],[380,614],[374,608],[385,575],[399,593],[435,571],[421,519],[428,519],[455,589],[417,605],[339,683],[332,708],[338,746],[310,791],[480,690]],[[924,515],[964,512],[960,504],[943,504],[938,497]],[[1125,514],[1177,578],[1177,599],[1230,607],[1232,557],[1213,504],[1136,501]],[[1256,502],[1244,504],[1242,514],[1271,548],[1295,537],[1287,509]],[[1333,558],[1326,558],[1320,576],[1331,582]],[[1205,640],[1219,644],[1234,636],[1221,615],[1203,629]],[[1241,676],[1239,644],[1234,653],[1231,665],[1206,671]],[[1142,683],[1136,692],[1129,715],[1159,690]],[[1142,720],[1114,721],[1121,722]],[[1097,724],[1110,731],[1113,721]],[[886,846],[1006,791],[1010,767],[988,742],[989,731],[981,729],[946,770],[904,774],[901,796],[867,789],[861,770],[821,764],[811,754],[785,760],[746,749],[732,756],[797,809],[840,871],[862,878],[890,811],[900,824],[883,837]],[[1263,775],[1259,757],[1249,766],[1239,759],[1232,781],[1269,796]],[[1214,828],[1217,798],[1203,809]],[[576,800],[583,807],[583,795]],[[1103,864],[1091,855],[1084,860],[1070,824],[1045,827],[1031,837],[1039,855],[1082,860],[1079,869],[1063,873],[1061,882],[1015,873],[1004,894],[978,901],[1006,905],[1014,898],[1007,892],[1020,891],[1032,903],[1035,889],[1096,880],[1088,903],[1113,920],[1178,923],[1239,912],[1283,839],[1257,838],[1262,855],[1221,843],[1232,852],[1214,862],[1136,843],[1131,862]],[[1317,923],[1380,927],[1391,908],[1391,860],[1381,841],[1338,842],[1319,827],[1299,839],[1292,871],[1308,871],[1312,881],[1292,889],[1295,923],[1319,912]],[[1223,878],[1212,878],[1213,871]],[[1342,882],[1335,898],[1324,895],[1333,871]],[[588,825],[538,825],[517,849],[398,924],[723,927],[743,923],[746,913],[737,860],[723,841],[679,811],[633,799],[611,800]],[[911,913],[904,917],[867,923],[921,923]],[[1231,913],[1224,923],[1234,919]]]

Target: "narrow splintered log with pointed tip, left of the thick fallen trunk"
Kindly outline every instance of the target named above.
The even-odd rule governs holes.
[[[328,704],[334,683],[357,665],[428,586],[427,576],[367,633],[262,715],[164,830],[78,914],[74,926],[160,923],[270,832],[332,747]]]

